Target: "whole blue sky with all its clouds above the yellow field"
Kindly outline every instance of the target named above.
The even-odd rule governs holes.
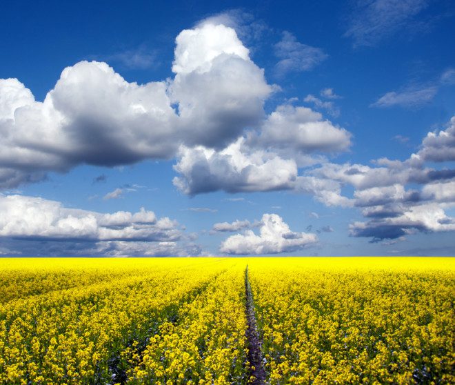
[[[452,1],[14,1],[0,255],[455,255]]]

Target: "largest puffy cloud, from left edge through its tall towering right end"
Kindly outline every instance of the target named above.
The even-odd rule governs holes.
[[[234,29],[205,23],[176,38],[173,79],[125,81],[106,63],[65,68],[43,102],[0,79],[0,187],[77,164],[170,159],[181,144],[223,148],[263,119],[272,92]]]

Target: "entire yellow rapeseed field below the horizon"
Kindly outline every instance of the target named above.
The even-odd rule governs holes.
[[[451,258],[0,259],[0,383],[453,384],[454,278]]]

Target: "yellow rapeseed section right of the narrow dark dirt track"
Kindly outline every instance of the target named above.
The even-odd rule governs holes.
[[[271,384],[454,384],[449,258],[249,261]]]

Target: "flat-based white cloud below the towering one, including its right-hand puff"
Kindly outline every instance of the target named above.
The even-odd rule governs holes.
[[[261,130],[250,130],[222,150],[182,146],[174,166],[180,176],[174,184],[190,195],[293,188],[309,193],[311,189],[302,188],[303,180],[296,183],[297,169],[325,161],[313,152],[346,150],[350,136],[310,108],[279,106]]]

